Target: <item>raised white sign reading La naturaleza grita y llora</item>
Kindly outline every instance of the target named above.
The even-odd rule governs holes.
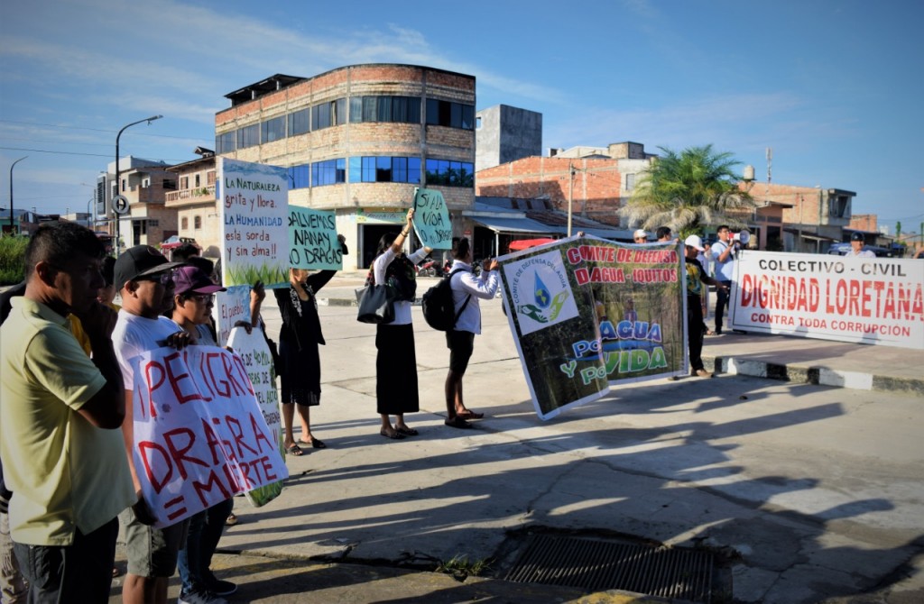
[[[286,168],[218,158],[222,283],[288,284]]]

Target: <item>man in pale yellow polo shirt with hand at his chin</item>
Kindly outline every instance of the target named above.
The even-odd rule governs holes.
[[[26,292],[0,328],[0,455],[30,601],[105,601],[116,516],[137,501],[119,431],[116,316],[96,300],[103,251],[84,226],[43,224],[26,249]],[[92,359],[68,331],[68,312]]]

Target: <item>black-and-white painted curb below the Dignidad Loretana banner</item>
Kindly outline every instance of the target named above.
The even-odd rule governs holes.
[[[702,360],[706,368],[711,368],[714,373],[745,375],[796,384],[834,386],[851,390],[924,395],[924,380],[877,376],[871,373],[825,367],[780,365],[738,356],[703,356]]]

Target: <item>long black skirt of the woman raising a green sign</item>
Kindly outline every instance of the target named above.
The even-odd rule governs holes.
[[[376,325],[375,395],[377,411],[395,416],[417,413],[417,356],[414,352],[414,326]]]

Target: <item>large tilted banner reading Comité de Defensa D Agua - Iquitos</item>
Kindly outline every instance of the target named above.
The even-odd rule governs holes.
[[[581,237],[498,260],[510,329],[542,419],[622,381],[686,373],[685,272],[675,245]]]

